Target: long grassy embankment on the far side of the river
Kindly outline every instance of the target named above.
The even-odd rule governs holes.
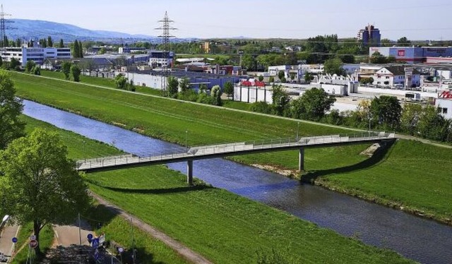
[[[293,137],[297,132],[297,120],[238,113],[12,74],[18,94],[22,97],[80,112],[110,124],[124,124],[129,129],[140,128],[148,136],[172,142],[184,143],[186,130],[189,131],[189,145]],[[345,129],[301,123],[299,135],[324,135],[344,131]],[[308,175],[309,179],[322,184],[328,181],[331,188],[388,205],[396,204],[404,210],[450,222],[452,208],[447,205],[452,200],[452,175],[449,173],[452,164],[448,162],[451,154],[447,150],[400,140],[388,154],[366,160],[359,155],[366,147],[355,145],[307,150],[305,167],[311,173]],[[429,156],[425,155],[426,152],[444,153],[442,156],[433,156],[438,157],[435,160],[441,160],[441,164],[427,160],[426,157]],[[405,158],[408,156],[410,158]],[[297,168],[297,152],[273,152],[234,159],[246,164]]]

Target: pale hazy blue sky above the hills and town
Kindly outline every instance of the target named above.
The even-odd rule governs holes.
[[[90,30],[160,35],[167,11],[176,37],[303,39],[356,37],[367,24],[381,38],[452,40],[451,0],[0,0],[6,18],[68,23]]]

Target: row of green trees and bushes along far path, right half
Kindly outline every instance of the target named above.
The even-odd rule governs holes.
[[[357,110],[331,110],[335,97],[323,89],[312,88],[290,100],[280,85],[273,85],[273,102],[254,102],[253,112],[319,121],[337,126],[405,133],[410,136],[452,143],[452,120],[433,105],[405,103],[397,97],[381,95],[359,103]]]

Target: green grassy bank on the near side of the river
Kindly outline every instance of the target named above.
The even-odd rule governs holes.
[[[107,144],[33,119],[26,121],[28,128],[43,126],[58,130],[68,145],[69,156],[74,159],[83,157],[83,151],[88,157],[117,153]],[[256,263],[256,253],[268,254],[272,250],[290,263],[410,263],[393,251],[366,246],[234,193],[204,185],[186,186],[184,175],[164,166],[100,172],[85,177],[95,193],[214,263]],[[128,222],[102,208],[91,210],[88,217],[104,222],[99,232],[105,231],[109,239],[130,247]],[[160,242],[136,229],[133,233],[141,259],[153,260],[148,263],[182,262]],[[162,248],[165,253],[161,253]]]

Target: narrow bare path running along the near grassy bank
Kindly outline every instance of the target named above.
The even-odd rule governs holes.
[[[211,264],[209,260],[201,256],[200,254],[192,251],[190,248],[184,246],[182,243],[172,239],[171,237],[167,236],[167,234],[160,232],[154,227],[151,227],[149,224],[146,224],[145,222],[134,217],[133,215],[129,215],[128,213],[124,212],[124,210],[122,210],[121,208],[118,208],[117,206],[112,205],[112,203],[109,203],[104,198],[97,196],[97,194],[90,192],[90,195],[93,196],[93,198],[95,198],[100,204],[105,205],[110,210],[114,210],[114,212],[117,212],[119,215],[121,215],[121,217],[124,217],[124,219],[130,220],[130,218],[132,217],[133,225],[143,230],[144,232],[148,232],[148,234],[155,237],[155,239],[162,241],[167,246],[172,248],[174,251],[179,253],[180,256],[183,256],[187,260],[191,261],[191,263]]]

